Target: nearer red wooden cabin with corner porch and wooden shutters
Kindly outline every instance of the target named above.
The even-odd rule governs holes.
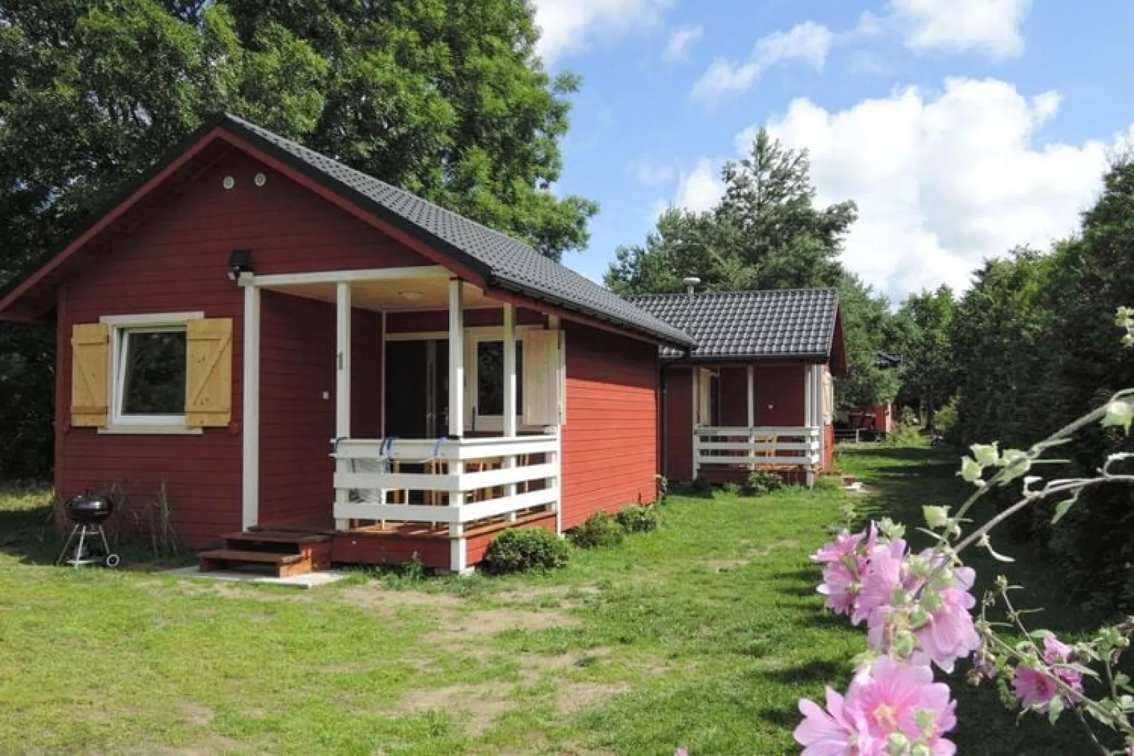
[[[458,571],[501,528],[653,501],[658,350],[693,345],[234,117],[0,290],[0,317],[56,324],[60,496],[163,485],[189,546]]]

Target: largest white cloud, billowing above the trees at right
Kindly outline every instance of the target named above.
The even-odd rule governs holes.
[[[820,202],[857,203],[843,260],[900,299],[940,283],[965,288],[983,260],[1074,231],[1116,143],[1035,144],[1058,108],[1055,92],[1025,96],[1006,82],[958,78],[835,112],[798,99],[768,127],[810,150]]]

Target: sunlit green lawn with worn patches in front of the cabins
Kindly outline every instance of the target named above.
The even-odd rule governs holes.
[[[871,512],[958,493],[928,449],[841,459]],[[790,753],[796,699],[844,688],[864,643],[806,559],[847,499],[675,496],[556,575],[297,593],[44,567],[42,495],[0,495],[0,753]],[[962,753],[1084,750],[957,687]]]

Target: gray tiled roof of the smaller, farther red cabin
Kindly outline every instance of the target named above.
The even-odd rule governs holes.
[[[837,289],[699,291],[628,297],[692,335],[693,359],[826,360],[838,313]],[[662,356],[677,351],[662,349]]]

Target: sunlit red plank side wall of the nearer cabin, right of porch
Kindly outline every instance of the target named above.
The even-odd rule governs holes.
[[[600,509],[655,498],[658,349],[576,323],[565,330],[561,507],[568,529]]]

